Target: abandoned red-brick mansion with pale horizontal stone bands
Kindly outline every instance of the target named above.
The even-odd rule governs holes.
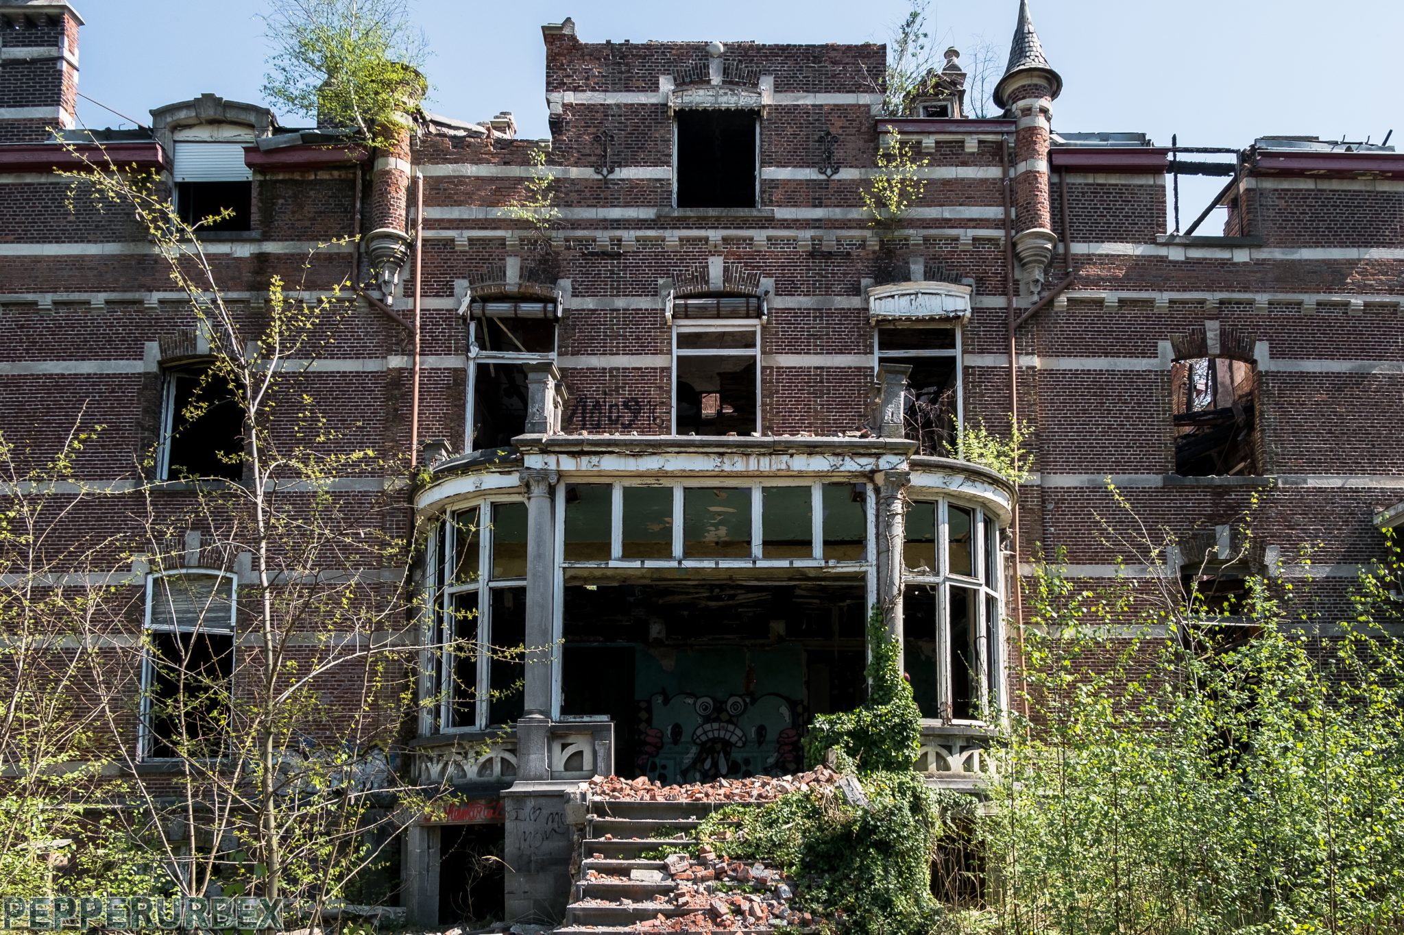
[[[65,0],[0,0],[0,428],[42,447],[102,423],[77,464],[108,488],[154,451],[140,510],[243,479],[239,419],[187,418],[208,335],[145,230],[66,199],[76,154],[156,172],[187,217],[223,212],[204,250],[250,315],[319,243],[310,287],[355,271],[302,385],[421,479],[333,489],[407,491],[431,641],[526,648],[414,673],[434,702],[393,761],[462,796],[403,834],[421,921],[453,915],[483,842],[504,848],[503,911],[559,918],[581,779],[803,768],[809,719],[863,697],[870,608],[925,718],[915,768],[969,786],[1040,547],[1078,578],[1195,575],[1227,600],[1299,575],[1309,541],[1344,589],[1404,523],[1404,156],[1071,132],[1077,88],[1026,1],[988,119],[955,49],[894,115],[882,45],[585,42],[567,18],[542,27],[550,139],[418,111],[369,154],[190,88],[150,126],[79,129],[80,25]],[[862,192],[899,139],[920,199],[875,226]],[[1185,174],[1223,188],[1181,228]],[[963,430],[1011,415],[1018,484],[962,457]],[[1165,565],[1118,565],[1108,478],[1179,537]],[[198,534],[190,554],[191,593],[237,607],[208,636],[218,667],[247,568],[204,568]],[[153,576],[121,586],[159,643],[187,608]],[[164,725],[133,722],[138,761],[170,756]]]

